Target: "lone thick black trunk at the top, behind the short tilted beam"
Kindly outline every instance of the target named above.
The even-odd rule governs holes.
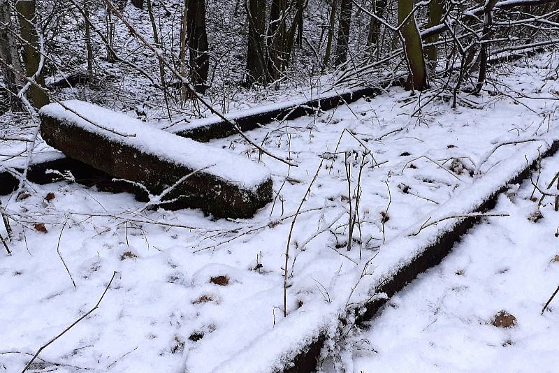
[[[190,80],[197,90],[204,92],[210,70],[208,34],[205,28],[205,0],[189,0],[187,34],[190,50]]]

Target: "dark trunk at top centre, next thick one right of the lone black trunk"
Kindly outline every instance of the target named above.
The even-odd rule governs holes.
[[[246,0],[245,6],[249,22],[247,82],[266,84],[266,0]]]

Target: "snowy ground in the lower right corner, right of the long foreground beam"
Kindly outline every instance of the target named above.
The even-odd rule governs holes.
[[[553,178],[558,161],[542,162],[541,180]],[[559,298],[541,312],[559,285],[559,212],[548,197],[535,222],[532,191],[525,182],[501,196],[496,209],[509,217],[483,221],[391,298],[348,342],[347,372],[556,372]],[[501,311],[516,325],[493,326]]]

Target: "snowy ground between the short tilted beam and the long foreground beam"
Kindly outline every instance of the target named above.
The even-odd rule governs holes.
[[[549,61],[544,55],[507,71],[505,82],[526,96],[553,98],[559,85],[549,78],[556,76]],[[433,101],[410,117],[418,108],[416,98],[391,89],[372,101],[250,131],[254,141],[299,164],[288,168],[263,156],[277,198],[253,219],[212,221],[196,210],[138,213],[143,205],[128,194],[67,182],[33,186],[35,193],[20,201],[1,197],[13,218],[14,254],[0,261],[0,363],[8,372],[21,370],[27,353],[96,303],[117,270],[101,307],[41,353],[50,370],[205,373],[281,367],[317,337],[317,330],[335,328],[331,316],[345,305],[370,258],[377,255],[369,266],[375,276],[401,258],[412,258],[413,245],[385,249],[394,248],[393,242],[421,225],[423,217],[435,219],[475,203],[474,183],[491,189],[487,183],[504,177],[507,165],[516,169],[524,155],[537,156],[539,143],[506,145],[481,165],[483,177],[470,175],[498,142],[545,135],[548,124],[550,133],[555,129],[557,101],[516,92],[509,94],[533,111],[484,92],[467,96],[476,108],[451,110],[448,103]],[[206,146],[253,161],[260,156],[238,136]],[[293,230],[284,319],[286,240],[321,161]],[[349,203],[354,208],[363,162],[361,231],[347,251]],[[56,196],[50,202],[49,192]],[[447,204],[465,195],[470,199]],[[491,224],[500,219],[507,218],[492,218]],[[45,224],[48,233],[36,231],[36,223]],[[434,239],[436,228],[415,239]],[[368,276],[351,299],[363,297],[375,276]]]

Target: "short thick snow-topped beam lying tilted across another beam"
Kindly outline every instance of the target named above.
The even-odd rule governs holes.
[[[41,136],[68,157],[165,194],[157,205],[199,208],[215,217],[247,218],[272,200],[269,170],[82,101],[40,111]],[[189,175],[189,177],[187,177]]]

